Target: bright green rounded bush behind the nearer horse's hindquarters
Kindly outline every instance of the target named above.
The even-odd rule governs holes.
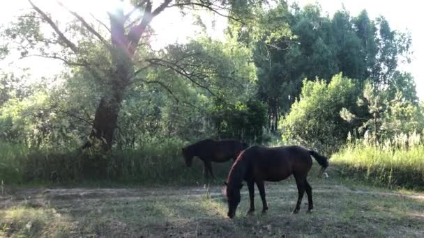
[[[355,98],[354,82],[342,74],[335,75],[330,84],[305,79],[299,100],[280,121],[283,140],[327,152],[336,150],[349,132],[349,123],[338,111]]]

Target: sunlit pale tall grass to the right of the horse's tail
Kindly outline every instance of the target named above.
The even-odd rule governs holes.
[[[331,163],[340,166],[342,174],[368,182],[424,189],[424,139],[420,134],[400,134],[377,145],[365,136],[333,154]]]

